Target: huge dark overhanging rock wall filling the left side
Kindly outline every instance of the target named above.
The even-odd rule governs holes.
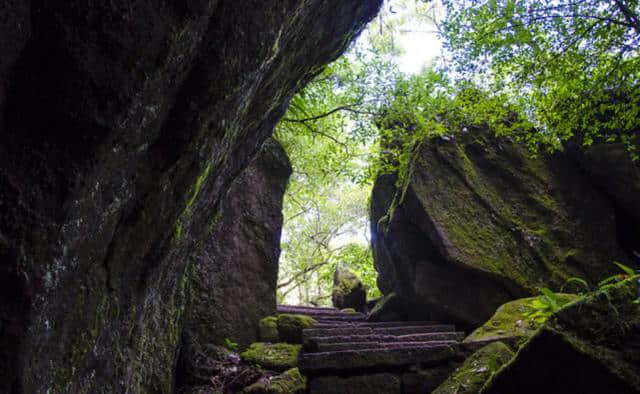
[[[172,392],[226,192],[379,6],[2,2],[0,392]]]

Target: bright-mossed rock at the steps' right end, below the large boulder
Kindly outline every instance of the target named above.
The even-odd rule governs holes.
[[[575,294],[557,293],[562,302],[575,301],[579,296]],[[531,302],[537,297],[521,298],[507,302],[496,310],[496,313],[485,324],[471,333],[465,342],[522,339],[530,337],[540,327],[534,319],[527,317],[532,312]]]

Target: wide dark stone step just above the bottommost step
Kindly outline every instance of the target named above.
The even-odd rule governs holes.
[[[349,374],[447,362],[458,356],[457,343],[423,344],[408,348],[394,345],[390,344],[384,349],[302,353],[298,358],[298,367],[303,374],[312,376]]]

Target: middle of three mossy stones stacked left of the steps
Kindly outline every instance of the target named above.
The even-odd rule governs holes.
[[[301,345],[290,343],[252,343],[240,356],[263,368],[284,372],[298,364]]]

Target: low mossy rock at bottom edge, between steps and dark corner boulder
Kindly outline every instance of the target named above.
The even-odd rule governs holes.
[[[504,343],[493,342],[467,358],[433,394],[475,394],[513,354]]]

